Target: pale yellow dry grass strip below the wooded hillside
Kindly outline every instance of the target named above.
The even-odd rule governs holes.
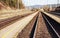
[[[7,19],[7,18],[11,18],[17,15],[24,15],[24,14],[29,14],[29,13],[33,13],[33,12],[27,9],[4,10],[4,11],[1,11],[0,13],[0,19]]]

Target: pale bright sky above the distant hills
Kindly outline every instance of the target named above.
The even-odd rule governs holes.
[[[57,0],[22,0],[22,1],[25,6],[57,4]]]

